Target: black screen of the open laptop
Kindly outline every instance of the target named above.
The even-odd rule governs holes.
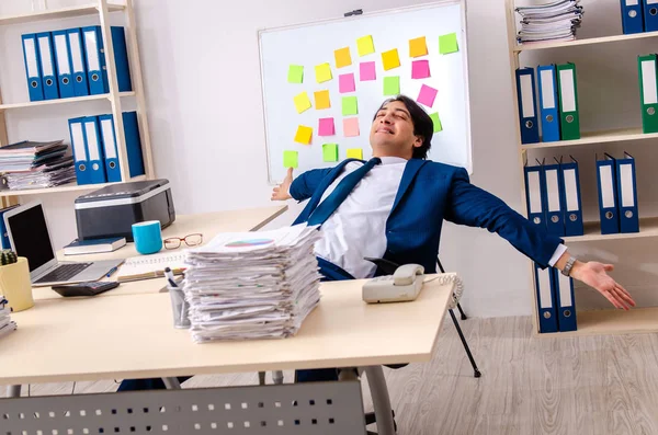
[[[16,255],[27,259],[30,272],[55,257],[42,205],[30,207],[7,218]]]

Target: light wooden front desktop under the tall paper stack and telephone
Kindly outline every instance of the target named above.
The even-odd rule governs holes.
[[[173,328],[168,294],[37,300],[12,314],[19,329],[0,342],[0,385],[430,360],[453,285],[367,305],[363,282],[322,283],[320,305],[285,340],[196,344]]]

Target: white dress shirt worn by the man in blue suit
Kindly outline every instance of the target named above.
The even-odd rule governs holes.
[[[376,266],[364,256],[383,257],[386,252],[386,220],[397,195],[407,160],[382,157],[356,184],[352,193],[322,224],[322,238],[316,242],[316,255],[342,267],[355,278],[374,276]],[[349,162],[343,172],[325,191],[320,203],[338,183],[363,163]],[[548,264],[553,266],[567,247],[560,244]]]

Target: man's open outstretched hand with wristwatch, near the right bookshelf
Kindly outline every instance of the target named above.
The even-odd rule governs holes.
[[[555,264],[557,268],[561,271],[569,256],[570,255],[565,252]],[[611,272],[614,266],[612,264],[603,264],[595,261],[589,261],[587,263],[576,261],[569,276],[595,288],[601,295],[610,300],[615,308],[627,310],[631,307],[635,307],[635,301],[628,291],[608,275],[608,272]]]

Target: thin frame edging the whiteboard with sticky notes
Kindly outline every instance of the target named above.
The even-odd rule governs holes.
[[[392,9],[384,9],[381,11],[374,11],[374,12],[367,12],[367,13],[363,13],[361,15],[352,15],[352,16],[340,16],[340,18],[334,18],[334,19],[325,19],[325,20],[316,20],[316,21],[309,21],[309,22],[305,22],[305,23],[297,23],[297,24],[288,24],[288,25],[282,25],[282,26],[276,26],[276,27],[262,27],[259,28],[257,31],[258,34],[258,51],[259,51],[259,64],[260,64],[260,81],[261,81],[261,100],[262,100],[262,107],[263,107],[263,133],[265,136],[265,163],[268,167],[268,185],[270,186],[275,186],[281,184],[281,182],[283,180],[272,180],[272,174],[270,172],[270,147],[268,147],[268,107],[266,107],[266,98],[265,98],[265,79],[264,79],[264,62],[263,62],[263,50],[262,50],[262,39],[261,36],[263,33],[268,33],[268,32],[280,32],[280,31],[286,31],[286,30],[293,30],[293,28],[300,28],[300,27],[310,27],[314,25],[318,25],[318,24],[330,24],[330,23],[334,23],[334,22],[340,22],[340,21],[344,21],[344,20],[361,20],[361,19],[365,19],[365,18],[372,18],[372,16],[377,16],[377,15],[388,15],[388,14],[394,14],[394,13],[404,13],[404,12],[411,12],[411,11],[418,11],[418,10],[423,10],[423,9],[434,9],[438,7],[443,7],[443,5],[451,5],[451,4],[460,4],[462,8],[462,30],[463,30],[463,41],[466,42],[466,44],[464,44],[464,47],[460,47],[460,51],[462,51],[462,62],[464,66],[464,71],[465,71],[465,76],[466,76],[466,82],[464,83],[464,90],[465,90],[465,98],[466,98],[466,102],[465,102],[465,107],[466,107],[466,152],[468,154],[468,167],[466,168],[466,171],[468,172],[468,174],[473,174],[473,135],[470,131],[470,73],[469,73],[469,69],[468,69],[468,27],[467,27],[467,23],[466,23],[466,0],[438,0],[431,3],[424,3],[424,4],[418,4],[418,5],[411,5],[411,7],[402,7],[402,8],[392,8]],[[368,144],[370,145],[370,144]]]

